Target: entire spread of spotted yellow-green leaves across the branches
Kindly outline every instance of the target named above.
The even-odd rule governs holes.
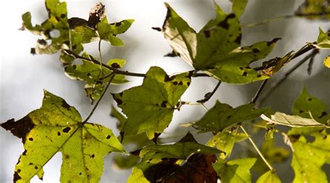
[[[265,58],[279,39],[241,45],[239,17],[246,3],[247,0],[233,0],[232,12],[228,14],[215,4],[216,17],[198,33],[166,3],[168,12],[162,29],[155,29],[164,34],[173,54],[191,64],[194,70],[168,75],[160,67],[150,67],[146,74],[131,73],[144,77],[141,86],[112,94],[125,114],[112,108],[111,116],[119,121],[118,137],[111,129],[88,122],[89,118],[82,120],[74,107],[46,90],[40,109],[21,120],[2,123],[1,127],[22,138],[24,143],[25,150],[15,167],[14,182],[29,182],[35,175],[41,179],[43,166],[56,152],[63,154],[61,182],[72,179],[77,182],[99,181],[104,156],[110,152],[121,153],[115,159],[119,167],[133,168],[128,182],[217,182],[218,179],[221,182],[251,182],[250,170],[258,159],[233,159],[230,154],[235,143],[246,139],[258,150],[243,125],[259,116],[265,121],[262,127],[267,131],[261,148],[264,156],[259,150],[258,153],[270,170],[262,172],[257,182],[281,182],[272,164],[288,159],[290,152],[276,147],[274,133],[284,136],[285,143],[292,150],[294,182],[327,182],[322,166],[330,164],[328,106],[309,95],[306,88],[294,104],[293,115],[273,112],[269,108],[256,109],[254,103],[233,108],[217,101],[200,120],[189,123],[198,133],[214,134],[205,145],[198,143],[190,133],[170,144],[162,144],[158,139],[170,125],[175,109],[185,104],[180,98],[197,72],[226,83],[251,83],[269,79],[306,51],[330,48],[330,33],[320,29],[317,41],[308,42],[299,51],[265,61],[260,68],[250,67],[251,63]],[[306,13],[308,18],[317,18],[318,9],[310,7],[313,3],[320,5],[318,1],[307,0],[296,15]],[[100,101],[110,83],[127,82],[125,74],[130,72],[120,70],[125,65],[124,60],[113,58],[104,64],[101,54],[98,61],[87,52],[81,54],[81,51],[84,44],[95,40],[99,41],[99,47],[101,40],[113,46],[123,46],[117,35],[129,29],[132,19],[109,24],[102,3],[92,8],[88,20],[68,19],[65,2],[46,0],[46,8],[49,17],[40,25],[31,24],[30,13],[22,16],[22,29],[42,35],[36,48],[31,49],[33,54],[54,54],[61,50],[60,60],[65,63],[65,74],[85,81],[86,95],[92,101]],[[314,13],[313,17],[309,17],[311,13]],[[324,18],[324,14],[319,16]],[[56,31],[58,36],[53,35]],[[81,59],[82,64],[74,63],[75,58]],[[329,57],[324,59],[324,65],[329,67]],[[276,129],[278,125],[292,128],[282,132]],[[127,152],[125,145],[131,143],[136,147]]]

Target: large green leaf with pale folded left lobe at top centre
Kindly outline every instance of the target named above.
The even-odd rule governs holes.
[[[235,7],[242,6],[235,4]],[[166,7],[168,13],[162,29],[164,37],[173,50],[196,70],[203,70],[227,83],[251,83],[268,78],[249,65],[265,58],[278,38],[240,47],[242,31],[237,15],[226,15],[217,4],[217,17],[199,33],[191,29],[167,3]]]

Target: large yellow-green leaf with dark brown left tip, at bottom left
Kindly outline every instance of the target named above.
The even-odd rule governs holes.
[[[111,129],[81,122],[74,107],[45,90],[40,109],[15,122],[1,124],[22,138],[24,152],[15,167],[14,182],[29,182],[34,175],[42,178],[42,168],[56,152],[62,152],[61,182],[98,182],[103,158],[110,152],[124,152]]]

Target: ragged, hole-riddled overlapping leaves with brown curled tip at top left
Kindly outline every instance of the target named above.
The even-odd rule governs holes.
[[[42,36],[37,41],[36,47],[31,49],[32,54],[55,54],[61,50],[60,60],[67,64],[72,63],[74,57],[66,54],[64,49],[70,49],[74,54],[79,54],[84,50],[83,44],[100,39],[114,46],[123,46],[123,41],[116,35],[127,31],[134,22],[133,19],[125,19],[108,24],[102,3],[97,3],[91,9],[88,20],[78,17],[68,19],[65,2],[45,0],[45,3],[48,19],[40,25],[33,26],[31,13],[24,13],[22,30],[27,29],[33,34]]]

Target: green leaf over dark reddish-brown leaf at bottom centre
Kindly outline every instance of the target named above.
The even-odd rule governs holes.
[[[194,136],[188,133],[177,143],[150,145],[143,148],[139,152],[141,162],[135,168],[139,168],[143,172],[143,177],[150,182],[159,180],[210,182],[207,180],[217,180],[217,174],[214,172],[212,164],[217,159],[214,154],[220,152],[215,148],[197,143]],[[186,159],[187,162],[180,166],[180,162]],[[136,170],[137,175],[140,174],[139,170]],[[134,175],[133,172],[129,180],[133,180],[133,177],[137,177],[137,175]],[[141,176],[139,177],[141,178]]]

